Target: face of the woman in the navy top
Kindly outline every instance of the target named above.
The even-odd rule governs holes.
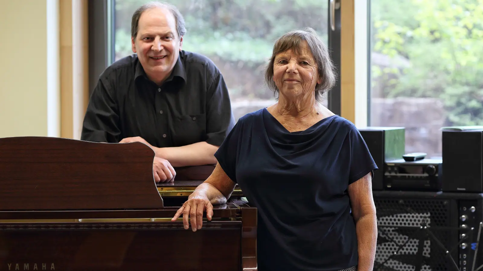
[[[275,56],[273,81],[280,95],[288,99],[315,92],[315,85],[321,83],[321,79],[307,42],[304,42],[300,54],[289,49]]]

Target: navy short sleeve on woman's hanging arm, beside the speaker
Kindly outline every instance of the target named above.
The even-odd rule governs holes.
[[[370,155],[366,142],[354,125],[349,132],[349,140],[351,149],[349,184],[352,184],[369,172],[374,173],[378,168]]]

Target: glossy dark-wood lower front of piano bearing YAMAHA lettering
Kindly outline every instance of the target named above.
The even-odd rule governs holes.
[[[213,207],[196,232],[178,207],[0,212],[0,271],[256,270],[256,209]]]

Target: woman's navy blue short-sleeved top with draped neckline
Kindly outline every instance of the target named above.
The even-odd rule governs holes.
[[[236,123],[215,153],[258,210],[258,270],[357,265],[348,186],[377,169],[354,124],[330,116],[290,133],[266,109]]]

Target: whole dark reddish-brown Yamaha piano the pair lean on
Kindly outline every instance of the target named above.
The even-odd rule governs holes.
[[[235,198],[185,230],[153,158],[140,142],[0,138],[0,271],[257,270],[256,208]]]

